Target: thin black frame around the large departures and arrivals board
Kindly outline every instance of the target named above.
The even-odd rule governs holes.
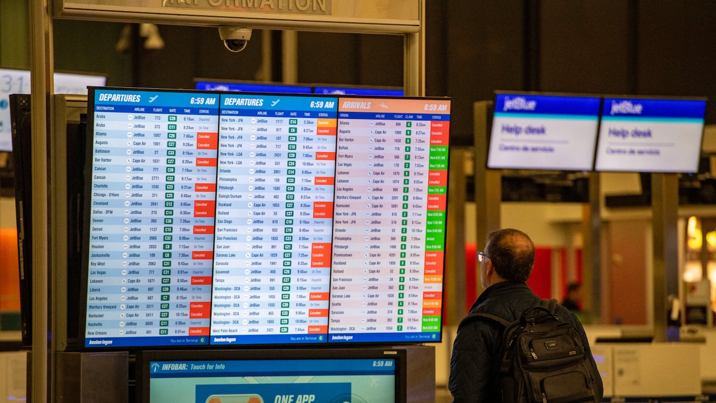
[[[232,92],[216,92],[216,91],[200,91],[200,90],[173,90],[173,89],[155,89],[155,88],[128,88],[128,87],[127,88],[125,88],[125,87],[90,87],[91,91],[89,92],[88,98],[87,98],[87,110],[88,110],[88,113],[87,113],[87,147],[85,150],[87,152],[87,155],[85,156],[85,161],[87,161],[87,165],[85,166],[85,170],[84,170],[85,176],[87,178],[87,180],[84,183],[86,194],[91,194],[91,192],[92,192],[92,180],[91,180],[92,161],[93,161],[92,160],[92,158],[93,158],[92,144],[94,141],[93,130],[94,130],[94,126],[95,126],[94,111],[91,110],[95,103],[95,100],[92,97],[92,94],[93,94],[94,90],[102,90],[102,89],[139,90],[139,91],[168,92],[168,93],[180,92],[180,93],[208,94],[208,95],[216,95],[217,93],[224,93],[224,94],[228,94],[228,95],[236,95],[236,93],[232,93]],[[275,95],[273,93],[242,93],[242,94],[245,94],[245,95]],[[360,95],[338,96],[338,95],[319,95],[319,94],[290,94],[290,96],[291,97],[305,97],[305,98],[334,98],[334,99],[354,98],[356,100],[390,98],[390,97],[371,97],[371,96],[360,96]],[[407,100],[410,100],[410,99],[440,100],[443,102],[444,101],[451,102],[450,98],[440,98],[440,97],[400,97],[400,98],[407,99]],[[428,113],[430,113],[430,112],[428,112]],[[436,111],[435,113],[440,113],[440,112]],[[450,115],[450,112],[448,112],[448,115]],[[448,123],[449,123],[449,120],[448,120]],[[449,131],[448,131],[448,136],[449,136]],[[449,144],[450,143],[448,140],[448,146],[447,146],[448,153],[450,150]],[[445,161],[445,166],[446,166],[445,175],[449,176],[450,158],[448,156],[446,156],[446,158],[447,158],[447,161]],[[445,197],[447,198],[447,196],[448,195],[446,194]],[[88,196],[88,197],[84,198],[85,211],[89,211],[89,209],[92,208],[91,203],[92,203],[91,197]],[[448,214],[448,203],[446,200],[445,201],[445,216],[446,217],[447,217],[447,214]],[[89,228],[89,226],[91,225],[90,219],[91,219],[90,214],[84,215],[83,229]],[[81,279],[81,281],[82,281],[81,288],[82,289],[80,292],[81,300],[79,301],[79,305],[81,308],[79,310],[79,327],[80,327],[79,331],[78,331],[79,338],[75,345],[68,346],[67,349],[84,350],[84,351],[116,351],[117,349],[130,350],[130,351],[137,351],[140,349],[158,349],[158,350],[161,350],[161,349],[207,349],[207,350],[226,349],[226,346],[227,346],[226,344],[211,344],[211,343],[202,344],[202,345],[171,345],[171,346],[165,345],[165,344],[158,344],[158,345],[154,345],[154,344],[143,345],[142,344],[142,345],[137,345],[137,346],[115,346],[115,347],[112,347],[112,346],[87,347],[87,346],[85,346],[85,344],[86,344],[85,338],[87,335],[87,292],[88,292],[87,289],[89,286],[88,285],[88,280],[89,280],[89,277],[88,277],[89,276],[89,263],[88,263],[88,260],[89,260],[89,236],[84,237],[83,242],[84,242],[84,244],[82,245],[82,258],[84,260],[82,262],[82,279]],[[445,260],[446,260],[445,250],[443,250],[442,252],[443,252],[442,253],[442,268],[443,268],[443,270],[445,270]],[[441,299],[440,299],[440,311],[441,311],[440,321],[441,321],[441,323],[440,323],[439,330],[433,332],[433,333],[438,333],[438,337],[432,338],[430,340],[426,340],[426,339],[421,339],[421,340],[416,340],[416,341],[392,340],[392,339],[391,340],[379,340],[379,341],[349,341],[349,340],[329,341],[329,340],[326,340],[325,342],[322,342],[322,343],[241,343],[239,345],[242,346],[242,348],[246,347],[246,348],[260,349],[260,348],[263,348],[266,346],[283,346],[284,348],[288,348],[290,346],[290,347],[301,348],[301,347],[306,347],[306,346],[319,346],[319,347],[323,347],[323,346],[390,346],[390,345],[398,346],[398,345],[415,345],[418,343],[439,343],[440,341],[442,341],[442,336],[443,336],[443,331],[444,331],[443,326],[442,326],[442,319],[444,318],[444,315],[445,315],[445,313],[443,312],[443,309],[442,309],[442,307],[444,306],[444,302],[445,302],[445,292],[444,291],[445,291],[445,279],[444,279],[444,274],[443,274],[442,292],[440,295],[440,297],[441,297]],[[330,334],[331,333],[329,332],[328,335],[330,335]],[[400,334],[400,333],[395,333],[395,334]]]

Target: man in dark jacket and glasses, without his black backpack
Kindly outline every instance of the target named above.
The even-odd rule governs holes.
[[[485,252],[478,252],[480,283],[485,290],[475,301],[470,313],[490,313],[508,322],[541,298],[527,285],[535,260],[535,247],[530,238],[518,229],[500,229],[488,235]],[[596,369],[589,341],[579,320],[559,305],[556,313],[579,332],[585,354]],[[503,359],[503,327],[488,320],[470,321],[460,328],[453,343],[448,388],[455,403],[502,402],[500,394],[500,362]],[[604,387],[596,379],[597,397],[601,402]]]

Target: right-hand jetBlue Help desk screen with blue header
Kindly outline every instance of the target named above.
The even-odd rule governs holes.
[[[706,100],[604,98],[596,171],[697,172]]]

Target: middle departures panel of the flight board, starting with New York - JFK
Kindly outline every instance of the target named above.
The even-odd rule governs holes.
[[[211,343],[325,343],[336,98],[221,95]]]

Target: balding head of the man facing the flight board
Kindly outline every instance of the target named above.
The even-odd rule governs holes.
[[[488,235],[485,254],[500,278],[526,283],[535,262],[535,245],[518,229],[499,229]]]

